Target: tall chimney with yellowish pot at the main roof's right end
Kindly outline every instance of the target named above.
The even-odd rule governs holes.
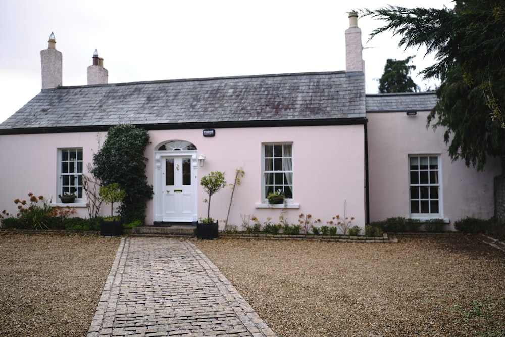
[[[345,71],[365,72],[361,29],[358,27],[358,13],[349,13],[349,28],[345,30]]]

